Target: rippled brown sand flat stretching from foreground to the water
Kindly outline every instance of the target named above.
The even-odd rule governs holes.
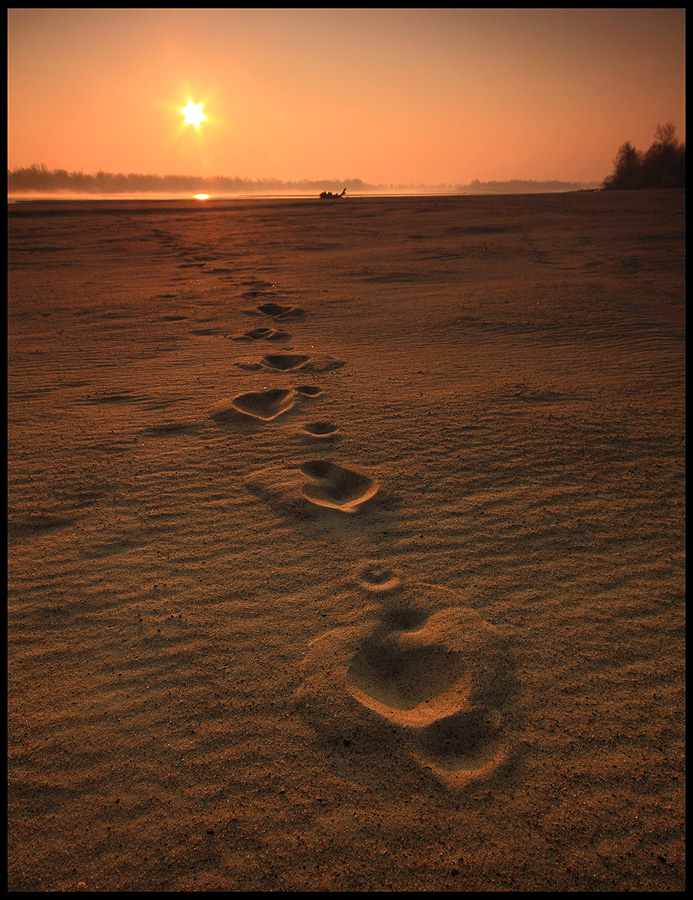
[[[682,890],[682,192],[8,207],[8,887]]]

